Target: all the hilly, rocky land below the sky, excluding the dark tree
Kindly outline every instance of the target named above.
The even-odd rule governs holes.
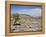
[[[32,18],[26,15],[20,15],[20,20],[17,21],[20,25],[13,25],[14,20],[11,18],[11,32],[22,31],[39,31],[41,30],[41,19]]]

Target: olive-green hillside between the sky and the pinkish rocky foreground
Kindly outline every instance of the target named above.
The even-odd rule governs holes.
[[[12,14],[13,16],[14,14]],[[15,14],[16,15],[16,14]],[[18,22],[19,23],[31,23],[31,22],[38,22],[38,20],[41,20],[41,17],[33,17],[33,16],[30,16],[30,15],[27,15],[27,14],[19,14],[19,20]]]

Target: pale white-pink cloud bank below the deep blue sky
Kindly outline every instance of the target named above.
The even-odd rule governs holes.
[[[41,16],[41,9],[40,8],[36,8],[36,9],[21,9],[21,10],[18,10],[18,11],[15,11],[17,13],[20,13],[20,14],[28,14],[28,15],[31,15],[31,16]]]

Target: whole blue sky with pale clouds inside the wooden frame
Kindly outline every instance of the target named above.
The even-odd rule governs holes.
[[[11,13],[27,14],[39,17],[41,16],[41,6],[11,5]]]

